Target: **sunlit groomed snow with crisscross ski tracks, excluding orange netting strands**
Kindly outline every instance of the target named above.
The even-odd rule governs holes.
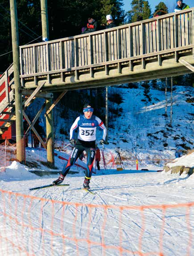
[[[28,188],[32,188],[39,185],[49,184],[53,181],[53,178],[42,178],[35,180],[12,180],[11,182],[2,182],[1,188],[4,190],[19,192],[31,196],[37,196],[40,198],[46,198],[56,201],[83,203],[83,204],[95,204],[95,205],[161,205],[161,204],[177,204],[180,202],[194,201],[194,195],[191,194],[193,190],[193,183],[189,181],[190,178],[180,176],[168,176],[162,173],[141,173],[141,174],[117,174],[117,175],[102,175],[94,176],[91,179],[91,189],[97,192],[96,195],[86,193],[80,188],[83,184],[83,177],[67,177],[65,183],[70,183],[69,187],[50,187],[39,190],[29,191]],[[18,189],[19,188],[19,189]],[[188,194],[190,197],[188,197]],[[17,235],[17,223],[11,222],[9,228],[6,230],[6,225],[3,225],[3,230],[6,230],[8,234],[11,230],[14,230],[14,235],[11,235],[11,239],[15,240],[15,243],[19,244],[21,241],[25,244],[26,249],[30,253],[35,253],[39,256],[39,252],[45,249],[45,254],[50,256],[63,255],[62,239],[53,239],[53,250],[47,248],[51,243],[51,237],[44,230],[50,230],[52,232],[63,232],[63,234],[70,236],[72,234],[72,227],[76,221],[76,236],[78,238],[85,238],[89,231],[90,238],[93,241],[99,243],[106,243],[107,245],[120,246],[119,234],[122,234],[122,247],[132,251],[138,250],[139,237],[142,230],[141,213],[138,210],[122,210],[122,216],[116,209],[90,209],[85,205],[76,206],[72,205],[55,205],[48,201],[28,201],[29,205],[26,205],[23,210],[24,200],[17,198],[14,200],[14,196],[10,197],[9,207],[6,212],[14,217],[14,213],[17,210],[17,222],[33,223],[33,226],[40,226],[43,229],[35,239],[33,232],[30,231],[27,234],[27,228],[22,227],[22,235]],[[27,201],[27,199],[26,199]],[[14,209],[17,207],[17,209]],[[0,204],[1,211],[4,211],[4,204]],[[62,215],[64,212],[64,216]],[[52,224],[52,214],[54,213],[54,222]],[[77,216],[77,217],[76,217]],[[106,217],[106,218],[105,218]],[[63,226],[59,226],[63,218]],[[105,229],[102,230],[104,221]],[[159,241],[161,235],[161,226],[163,223],[162,210],[161,209],[145,209],[144,210],[145,229],[142,235],[142,250],[144,252],[152,252],[159,250]],[[190,209],[190,223],[192,232],[194,233],[194,209]],[[119,231],[119,226],[121,230]],[[0,224],[2,227],[2,224]],[[60,230],[58,230],[60,229]],[[119,232],[119,233],[118,233]],[[165,226],[163,234],[163,251],[165,256],[183,256],[186,255],[188,246],[188,229],[186,225],[186,210],[167,209],[165,212]],[[32,242],[36,241],[36,246],[32,247]],[[66,240],[66,255],[76,255],[76,246],[74,241]],[[80,246],[78,245],[79,253],[82,256],[88,255],[87,243]],[[7,247],[4,246],[2,252],[7,252]],[[104,249],[102,247],[92,245],[92,256],[103,255]],[[16,253],[17,252],[17,253]],[[17,256],[18,250],[15,253],[9,255]],[[190,255],[194,254],[194,248],[190,248]],[[0,249],[1,253],[1,249]],[[4,254],[6,255],[6,253]],[[105,250],[105,255],[119,255],[119,251],[114,253],[110,249]],[[127,256],[128,254],[123,253]],[[136,255],[136,254],[131,254]]]

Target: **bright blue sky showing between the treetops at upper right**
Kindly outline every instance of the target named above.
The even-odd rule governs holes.
[[[124,7],[124,10],[126,12],[131,9],[131,2],[132,2],[132,0],[123,0],[123,3],[124,3],[123,7]],[[157,4],[159,4],[160,2],[164,2],[167,5],[167,7],[169,9],[169,12],[173,12],[173,9],[176,6],[176,0],[172,0],[172,1],[167,1],[167,0],[149,0],[149,4],[151,5],[152,12],[154,11],[155,6]],[[190,7],[194,6],[193,0],[184,0],[183,2],[188,4]]]

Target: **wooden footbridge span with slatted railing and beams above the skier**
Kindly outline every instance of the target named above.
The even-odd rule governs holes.
[[[192,72],[194,8],[20,47],[24,88],[77,90]],[[188,69],[187,67],[191,68]]]

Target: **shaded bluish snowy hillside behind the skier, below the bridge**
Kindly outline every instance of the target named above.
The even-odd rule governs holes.
[[[159,81],[158,83],[160,83]],[[141,84],[136,88],[128,85],[108,88],[109,98],[119,94],[122,103],[109,101],[108,142],[106,148],[112,152],[120,148],[120,153],[128,159],[173,159],[177,146],[186,153],[193,149],[194,92],[192,87],[173,87],[173,115],[170,126],[170,92],[167,92],[167,116],[165,116],[165,92],[149,89]],[[64,96],[69,97],[68,93]],[[82,106],[80,106],[82,108]],[[103,110],[103,109],[102,109]],[[68,111],[66,119],[60,117],[61,107],[55,110],[55,138],[69,140],[69,129],[79,112]],[[101,117],[105,122],[105,115]],[[63,131],[61,134],[61,130]],[[65,134],[65,135],[64,135]],[[100,133],[97,132],[97,142]]]

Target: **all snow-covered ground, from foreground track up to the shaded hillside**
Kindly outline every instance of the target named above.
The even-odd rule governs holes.
[[[174,89],[171,127],[170,93],[165,117],[165,92],[151,84],[149,90],[141,85],[137,89],[110,87],[109,94],[119,90],[123,102],[118,106],[109,102],[119,115],[109,112],[109,144],[104,149],[109,164],[105,170],[101,159],[101,170],[92,175],[91,189],[96,195],[80,189],[86,159],[71,168],[63,182],[70,186],[29,190],[52,183],[62,170],[71,152],[66,145],[75,118],[73,111],[66,113],[66,120],[60,117],[60,111],[55,113],[58,170],[45,166],[45,150],[27,148],[26,163],[30,167],[10,161],[4,172],[8,151],[3,147],[0,256],[194,255],[194,174],[188,177],[161,171],[166,162],[169,167],[194,166],[194,153],[174,159],[178,146],[185,152],[193,148],[193,104],[187,100],[193,97],[193,90],[184,86]],[[39,105],[37,109],[29,107],[32,116]],[[97,143],[100,138],[98,131]],[[120,167],[118,152],[123,171],[116,170]],[[111,167],[112,159],[116,166]]]

